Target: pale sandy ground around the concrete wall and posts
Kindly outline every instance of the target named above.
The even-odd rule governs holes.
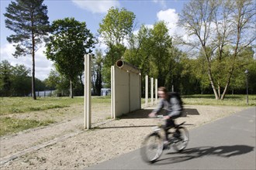
[[[147,118],[154,107],[147,107],[111,120],[110,106],[92,108],[92,129],[83,129],[82,106],[60,110],[76,112],[73,116],[55,117],[63,119],[57,124],[22,131],[0,138],[1,169],[82,169],[105,162],[119,155],[140,148],[145,136],[159,120]],[[245,107],[214,107],[185,105],[188,129],[196,128],[243,110]],[[41,114],[22,115],[27,118]],[[75,116],[74,116],[75,115]],[[15,117],[15,116],[14,116]]]

